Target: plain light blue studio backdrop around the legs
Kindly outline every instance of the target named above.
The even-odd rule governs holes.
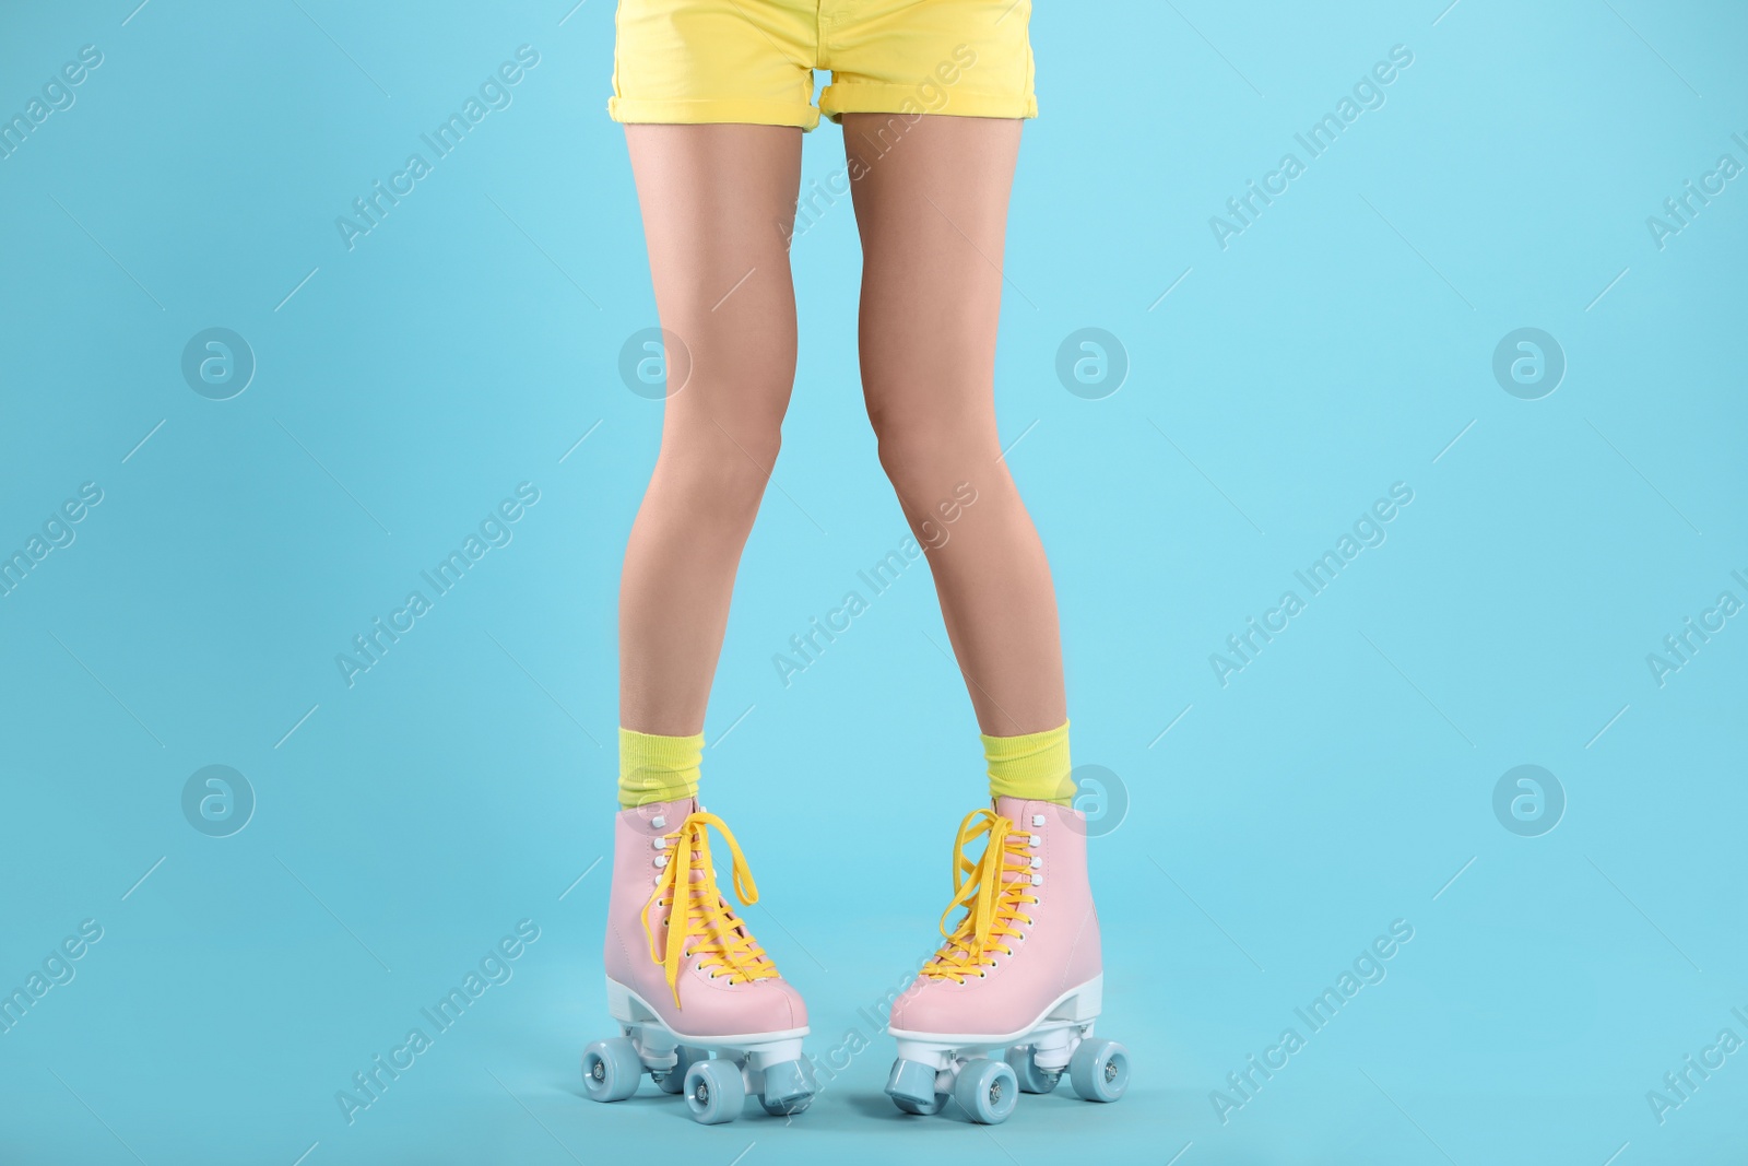
[[[900,1119],[858,1012],[932,946],[982,790],[926,575],[790,687],[771,664],[904,533],[848,203],[795,245],[706,797],[813,1051],[869,1047],[794,1126],[593,1105],[617,568],[659,434],[617,372],[656,320],[612,5],[135,2],[0,16],[7,117],[103,52],[0,159],[0,549],[103,489],[0,598],[0,988],[103,927],[0,1035],[0,1159],[1741,1161],[1748,1052],[1662,1124],[1647,1091],[1748,1038],[1748,619],[1662,687],[1647,654],[1748,600],[1748,178],[1662,250],[1645,224],[1748,163],[1739,5],[1040,5],[998,397],[1075,759],[1131,801],[1092,864],[1136,1080],[988,1131]],[[334,219],[523,44],[514,103],[348,252]],[[1397,44],[1386,105],[1222,250],[1210,217]],[[231,400],[180,374],[208,327],[259,362]],[[1131,362],[1103,400],[1054,372],[1082,327]],[[1568,360],[1540,400],[1491,374],[1519,327]],[[348,689],[334,656],[524,481],[514,540]],[[1210,654],[1391,482],[1388,542],[1222,687]],[[231,837],[182,815],[208,764],[257,795]],[[1493,813],[1519,764],[1568,799],[1540,837]],[[336,1091],[519,920],[514,979],[348,1126]],[[1210,1091],[1393,920],[1388,979],[1222,1124]]]

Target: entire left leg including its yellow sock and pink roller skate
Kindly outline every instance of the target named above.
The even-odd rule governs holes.
[[[608,1010],[638,1044],[589,1045],[584,1087],[622,1100],[649,1070],[666,1093],[685,1089],[699,1121],[727,1121],[739,1112],[739,1068],[703,1051],[757,1049],[766,1110],[797,1114],[815,1089],[801,1059],[808,1005],[718,890],[711,830],[727,844],[732,893],[757,902],[739,844],[696,794],[734,570],[795,376],[781,224],[801,182],[801,129],[633,124],[626,140],[656,306],[690,376],[669,385],[678,392],[664,404],[619,594],[621,813],[603,967]],[[704,1105],[711,1094],[720,1114]]]

